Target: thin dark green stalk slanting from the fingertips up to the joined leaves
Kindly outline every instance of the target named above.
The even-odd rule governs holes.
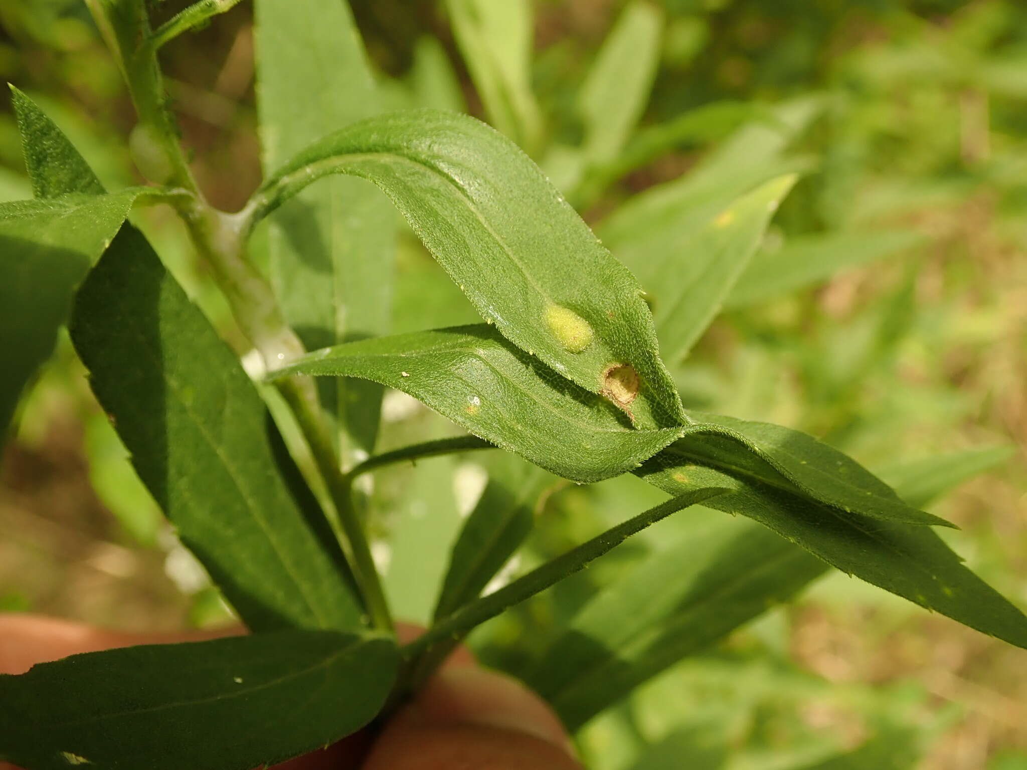
[[[568,575],[583,569],[593,560],[612,550],[626,538],[641,532],[649,525],[689,505],[701,503],[728,490],[720,487],[694,490],[672,498],[637,516],[607,530],[602,535],[535,568],[508,585],[483,596],[443,618],[427,632],[403,648],[404,670],[397,688],[404,697],[420,688],[446,660],[446,657],[467,633],[486,620],[494,618],[507,607],[524,602],[539,591],[560,582]]]

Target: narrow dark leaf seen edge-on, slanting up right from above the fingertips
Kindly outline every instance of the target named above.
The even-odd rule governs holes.
[[[584,569],[591,562],[608,553],[632,535],[659,522],[672,513],[715,499],[724,490],[720,488],[693,489],[686,494],[649,508],[632,516],[626,522],[612,527],[603,534],[586,540],[566,553],[535,568],[527,575],[504,585],[487,596],[483,596],[449,615],[445,620],[432,625],[423,636],[404,648],[406,657],[414,657],[434,644],[447,644],[459,639],[471,628],[494,618],[503,610],[524,602],[540,591],[555,585],[568,575]]]

